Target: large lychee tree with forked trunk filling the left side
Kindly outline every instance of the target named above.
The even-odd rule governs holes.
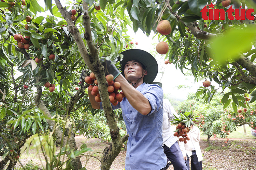
[[[0,2],[0,102],[1,120],[4,120],[1,121],[1,132],[3,129],[7,135],[13,135],[10,128],[14,127],[16,134],[23,138],[14,148],[8,137],[1,135],[4,145],[0,145],[0,154],[5,156],[1,168],[10,162],[12,167],[9,169],[12,169],[20,148],[25,144],[28,148],[25,141],[29,137],[38,139],[37,133],[53,134],[58,145],[69,146],[66,150],[70,158],[67,169],[82,168],[79,154],[84,153],[86,147],[77,150],[74,117],[84,113],[96,114],[88,100],[88,85],[81,84],[78,90],[75,89],[80,73],[85,69],[88,75],[94,72],[97,78],[112,139],[112,145],[105,148],[100,158],[101,169],[109,169],[128,136],[120,136],[109,102],[107,73],[100,59],[114,60],[118,53],[132,46],[129,35],[126,35],[131,21],[122,7],[124,1],[77,0],[64,8],[58,0],[56,5],[51,0],[45,1],[45,8],[39,5],[39,1],[26,0],[26,4],[21,0],[7,2]],[[95,9],[96,3],[101,8],[97,4]],[[51,15],[38,15],[45,10]],[[27,135],[25,138],[24,134]],[[54,168],[52,165],[60,163],[58,155],[50,160],[47,167]]]

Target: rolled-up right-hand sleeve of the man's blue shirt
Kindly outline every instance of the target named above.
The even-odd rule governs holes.
[[[147,90],[142,92],[142,94],[147,98],[151,105],[151,112],[147,114],[147,116],[157,112],[160,108],[162,108],[163,90],[160,86],[153,84],[149,85]]]

